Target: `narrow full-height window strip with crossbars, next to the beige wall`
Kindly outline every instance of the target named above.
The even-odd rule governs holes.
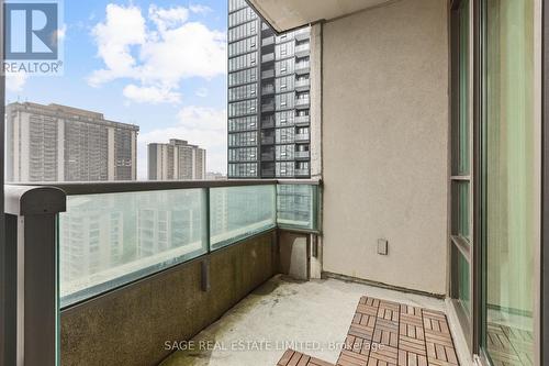
[[[451,11],[451,297],[462,328],[471,333],[472,278],[472,53],[471,1],[455,1]]]

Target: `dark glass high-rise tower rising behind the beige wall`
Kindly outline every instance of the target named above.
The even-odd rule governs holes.
[[[310,178],[310,29],[228,1],[228,178]]]

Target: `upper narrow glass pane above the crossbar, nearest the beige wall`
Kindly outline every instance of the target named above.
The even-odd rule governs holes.
[[[469,0],[459,10],[458,175],[469,175]]]

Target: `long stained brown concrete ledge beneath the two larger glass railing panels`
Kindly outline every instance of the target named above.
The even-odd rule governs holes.
[[[191,339],[271,278],[277,253],[271,231],[63,311],[63,365],[159,364],[166,342]]]

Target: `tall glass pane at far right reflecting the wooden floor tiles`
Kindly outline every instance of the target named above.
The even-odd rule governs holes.
[[[536,158],[534,0],[485,9],[486,274],[484,346],[496,365],[534,364]]]

